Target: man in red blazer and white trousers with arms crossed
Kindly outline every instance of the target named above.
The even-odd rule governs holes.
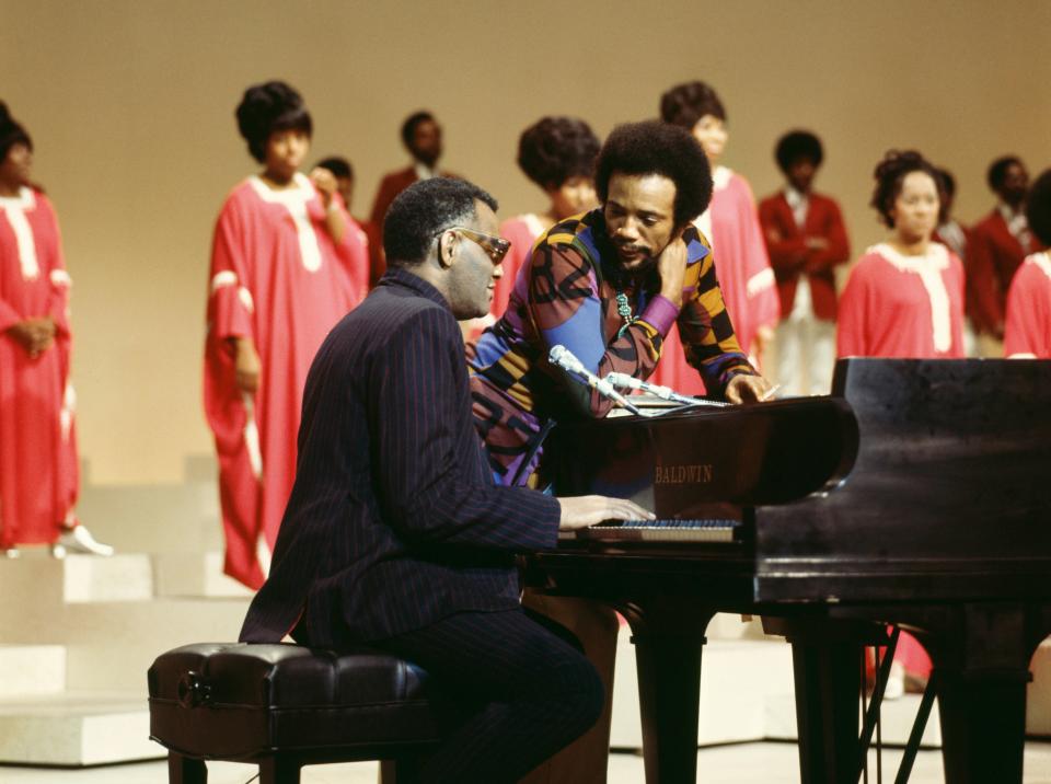
[[[787,183],[759,205],[770,263],[781,295],[777,381],[787,394],[828,394],[835,361],[835,266],[851,255],[839,205],[813,193],[824,159],[821,140],[786,134],[775,150]]]

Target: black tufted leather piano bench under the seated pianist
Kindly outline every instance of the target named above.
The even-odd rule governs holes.
[[[150,737],[170,784],[206,784],[206,760],[259,766],[259,784],[299,784],[303,765],[383,760],[384,784],[448,728],[418,667],[376,650],[204,643],[150,667]]]

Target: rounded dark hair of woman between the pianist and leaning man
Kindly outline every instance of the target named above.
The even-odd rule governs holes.
[[[570,177],[594,176],[598,157],[599,137],[575,117],[544,117],[518,139],[518,165],[544,191]]]

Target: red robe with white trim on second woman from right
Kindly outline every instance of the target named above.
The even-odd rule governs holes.
[[[936,242],[925,256],[869,247],[840,298],[836,356],[962,358],[963,263]],[[931,673],[927,652],[905,632],[894,660],[911,676]]]

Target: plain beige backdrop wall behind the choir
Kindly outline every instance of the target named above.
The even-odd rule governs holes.
[[[253,171],[233,122],[252,82],[307,96],[312,157],[353,159],[357,214],[404,165],[397,128],[413,109],[437,113],[444,163],[510,214],[543,206],[513,163],[522,127],[576,114],[604,135],[695,78],[721,94],[726,162],[759,195],[778,185],[779,132],[823,137],[819,187],[841,199],[858,251],[880,237],[866,204],[889,147],[949,166],[968,221],[990,206],[992,157],[1051,164],[1047,0],[0,0],[0,99],[33,135],[65,231],[81,449],[101,483],[178,481],[184,457],[211,448],[209,240]]]

